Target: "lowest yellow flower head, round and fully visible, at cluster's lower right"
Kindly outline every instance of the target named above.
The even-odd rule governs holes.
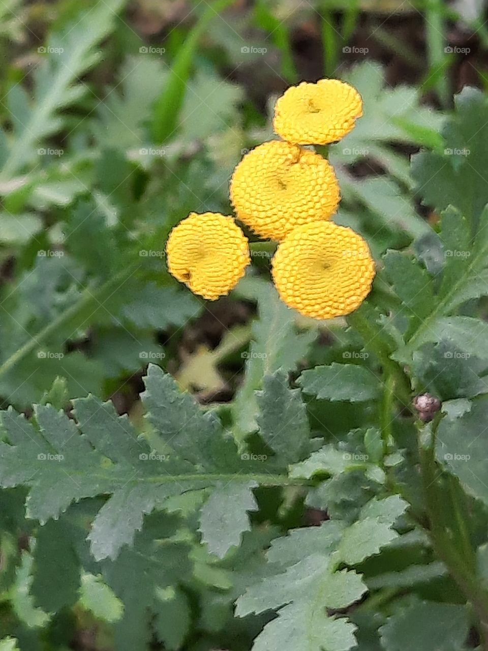
[[[353,312],[368,296],[374,275],[368,244],[353,230],[330,221],[292,230],[273,258],[281,299],[317,319]]]

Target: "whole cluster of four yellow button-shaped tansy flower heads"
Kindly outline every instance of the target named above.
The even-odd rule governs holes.
[[[334,169],[302,145],[339,140],[361,115],[359,92],[338,79],[289,88],[273,120],[282,140],[246,154],[230,182],[237,219],[278,242],[272,273],[280,298],[313,318],[357,309],[371,290],[375,264],[360,235],[328,221],[340,201]],[[178,281],[215,300],[236,286],[251,256],[232,217],[206,212],[191,213],[171,231],[167,260]]]

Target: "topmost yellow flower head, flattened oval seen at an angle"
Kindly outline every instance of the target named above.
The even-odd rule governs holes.
[[[291,86],[275,105],[275,132],[290,143],[327,145],[343,138],[362,116],[362,99],[339,79],[303,81]]]

